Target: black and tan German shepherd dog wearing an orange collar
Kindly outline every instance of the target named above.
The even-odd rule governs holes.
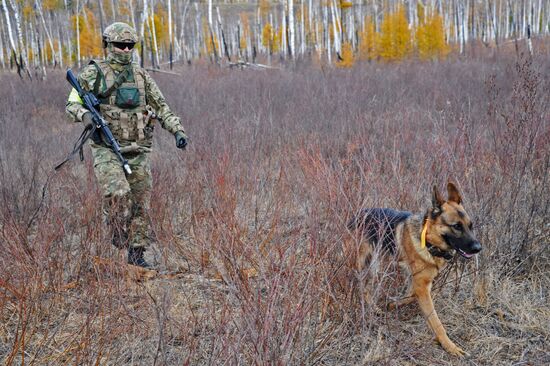
[[[456,254],[471,258],[481,251],[481,244],[472,232],[472,222],[462,206],[458,189],[448,183],[447,191],[445,201],[434,186],[432,207],[424,214],[387,208],[363,209],[349,222],[348,229],[359,235],[360,244],[355,247],[357,270],[364,270],[375,253],[383,253],[395,255],[400,267],[408,272],[411,281],[407,294],[389,304],[389,308],[409,304],[416,298],[443,348],[463,356],[465,352],[449,339],[435,312],[431,288],[447,261]],[[374,252],[376,246],[382,247]]]

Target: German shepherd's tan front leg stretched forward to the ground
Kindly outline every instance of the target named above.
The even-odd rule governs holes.
[[[413,279],[413,287],[414,293],[418,298],[420,309],[422,310],[424,317],[426,317],[428,324],[434,331],[438,342],[450,354],[463,356],[466,352],[464,352],[460,347],[458,347],[456,344],[453,343],[453,341],[449,339],[445,328],[443,328],[443,324],[441,324],[441,321],[439,320],[439,317],[435,312],[431,295],[431,279],[426,278],[425,275],[420,273]]]

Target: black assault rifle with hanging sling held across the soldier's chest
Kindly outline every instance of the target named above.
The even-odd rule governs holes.
[[[109,129],[109,126],[107,125],[105,119],[103,119],[103,117],[101,117],[101,114],[99,114],[99,100],[97,99],[97,97],[93,93],[86,92],[82,89],[71,69],[67,70],[67,81],[77,91],[80,99],[82,99],[84,108],[86,108],[92,114],[93,125],[90,127],[86,127],[86,129],[84,130],[84,132],[82,132],[80,138],[76,142],[73,148],[73,152],[69,155],[69,157],[67,157],[67,159],[65,159],[65,161],[57,165],[55,167],[55,170],[59,169],[63,164],[65,164],[77,151],[80,151],[80,158],[82,159],[82,146],[84,145],[84,142],[86,142],[86,140],[88,140],[94,133],[99,132],[99,134],[102,135],[103,138],[106,140],[106,143],[113,149],[113,152],[118,157],[118,160],[120,160],[124,171],[128,175],[132,174],[130,165],[128,165],[128,160],[126,160],[124,156],[122,156],[120,145],[113,136],[113,133]]]

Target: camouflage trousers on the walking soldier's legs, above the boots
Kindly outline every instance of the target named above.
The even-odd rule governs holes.
[[[126,176],[115,153],[92,144],[94,173],[103,194],[103,214],[113,245],[118,248],[150,244],[149,207],[151,163],[148,152],[124,154],[132,174]]]

